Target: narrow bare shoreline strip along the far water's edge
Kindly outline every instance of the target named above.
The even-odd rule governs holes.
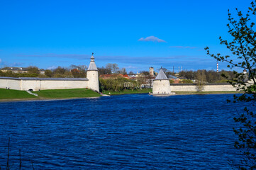
[[[243,94],[243,92],[237,91],[203,91],[203,92],[196,92],[196,91],[177,91],[174,92],[175,94],[172,96],[177,95],[208,95],[208,94]],[[132,93],[133,94],[133,93]],[[135,93],[135,94],[148,94],[148,93]],[[107,94],[108,95],[108,94]],[[127,95],[127,94],[111,94],[110,96],[118,96],[118,95]],[[100,98],[104,96],[91,96],[91,97],[70,97],[70,98],[6,98],[0,99],[0,103],[4,102],[18,102],[18,101],[65,101],[65,100],[72,100],[72,99],[82,99],[82,98]]]

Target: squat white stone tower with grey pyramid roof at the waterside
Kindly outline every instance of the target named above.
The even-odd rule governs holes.
[[[153,95],[171,95],[171,86],[169,86],[169,79],[167,79],[165,72],[162,71],[157,74],[153,81]]]

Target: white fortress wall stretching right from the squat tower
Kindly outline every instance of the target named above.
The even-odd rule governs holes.
[[[195,84],[171,84],[172,91],[197,91]],[[230,84],[206,84],[203,91],[236,91]]]

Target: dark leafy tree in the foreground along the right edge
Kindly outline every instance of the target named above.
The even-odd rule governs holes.
[[[223,40],[220,37],[221,45],[226,45],[232,55],[211,54],[206,47],[207,54],[214,57],[217,61],[227,62],[230,69],[246,69],[249,74],[233,72],[235,77],[228,82],[235,86],[238,91],[243,91],[241,96],[234,96],[233,102],[248,102],[250,109],[244,109],[238,118],[234,118],[238,123],[238,128],[234,128],[238,140],[235,142],[235,148],[243,155],[243,159],[236,164],[238,169],[256,169],[256,113],[254,111],[256,101],[256,32],[255,23],[252,18],[255,17],[256,1],[251,2],[247,13],[242,13],[236,8],[237,18],[233,18],[228,11],[228,33],[232,40]],[[223,77],[226,75],[223,74]],[[228,79],[228,77],[226,77]],[[249,81],[245,81],[248,79]]]

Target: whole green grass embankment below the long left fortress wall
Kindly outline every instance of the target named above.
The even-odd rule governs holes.
[[[98,97],[100,94],[90,89],[62,89],[32,91],[37,96],[28,94],[26,91],[0,89],[0,99],[55,99],[55,98],[86,98]]]

